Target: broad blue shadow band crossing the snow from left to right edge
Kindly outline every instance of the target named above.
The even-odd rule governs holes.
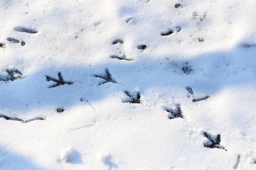
[[[154,56],[147,55],[146,59],[142,57],[127,62],[108,59],[106,56],[107,62],[100,64],[46,67],[33,74],[23,75],[23,79],[8,83],[0,81],[0,93],[4,96],[0,98],[0,111],[1,114],[11,116],[33,108],[68,108],[80,103],[80,98],[85,97],[90,102],[100,101],[113,93],[137,87],[146,91],[152,88],[192,86],[194,91],[207,92],[211,96],[226,86],[255,82],[255,52],[255,48],[238,46],[230,51],[210,52],[191,57],[189,60],[171,55],[154,60]],[[184,73],[184,65],[191,67],[193,72]],[[19,69],[18,66],[15,67]],[[106,82],[98,86],[99,77],[105,76],[102,75],[104,69],[111,72],[111,77],[116,83]],[[72,86],[56,86],[49,89],[48,86],[52,84],[46,81],[46,75],[56,75],[58,72],[61,72],[65,79],[73,81]]]

